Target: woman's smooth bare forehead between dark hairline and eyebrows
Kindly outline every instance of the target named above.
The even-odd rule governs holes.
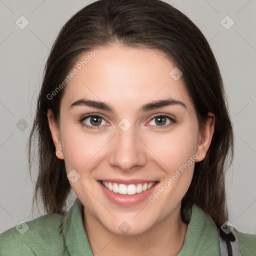
[[[191,103],[182,80],[170,75],[174,64],[156,49],[111,44],[85,52],[73,68],[62,99],[68,104],[82,97],[111,105],[165,98]]]

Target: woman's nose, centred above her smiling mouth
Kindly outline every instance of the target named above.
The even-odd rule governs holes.
[[[117,127],[108,155],[109,164],[125,172],[131,172],[146,164],[146,148],[131,126],[127,131]]]

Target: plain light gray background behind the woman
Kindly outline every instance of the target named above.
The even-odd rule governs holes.
[[[45,213],[35,209],[31,214],[36,171],[31,181],[26,142],[49,49],[65,21],[87,2],[0,0],[0,232]],[[256,234],[256,1],[167,2],[201,29],[219,64],[235,134],[234,160],[226,176],[229,221]],[[24,29],[15,23],[21,15],[29,21]],[[229,29],[220,23],[226,15],[234,21]],[[20,119],[28,126],[22,128]]]

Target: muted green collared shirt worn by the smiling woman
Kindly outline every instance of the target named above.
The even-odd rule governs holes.
[[[83,205],[76,198],[65,215],[48,213],[0,234],[0,256],[93,256],[82,221]],[[242,256],[256,255],[256,235],[236,230]],[[104,252],[97,253],[98,255]],[[219,241],[212,218],[196,204],[184,244],[177,256],[219,256]]]

